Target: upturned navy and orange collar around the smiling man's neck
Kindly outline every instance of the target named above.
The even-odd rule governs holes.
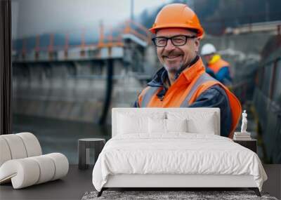
[[[185,66],[182,69],[178,70],[178,72],[176,73],[175,83],[181,82],[182,84],[189,84],[192,79],[195,79],[195,77],[199,73],[202,74],[203,72],[205,72],[204,64],[202,62],[202,59],[197,55],[195,59],[191,62],[190,67]],[[168,72],[166,72],[166,69],[162,67],[152,77],[152,81],[148,83],[148,86],[164,86],[164,81],[166,79],[168,79]]]

